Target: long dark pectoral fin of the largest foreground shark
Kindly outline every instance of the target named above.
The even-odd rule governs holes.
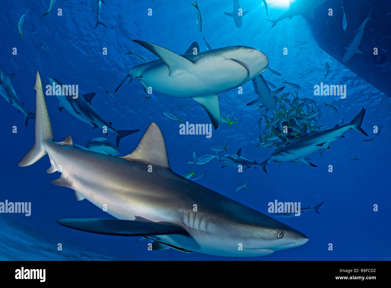
[[[147,222],[136,220],[120,219],[59,219],[56,221],[60,225],[107,235],[120,236],[148,236],[148,235],[188,235],[188,232],[182,227],[170,223]]]

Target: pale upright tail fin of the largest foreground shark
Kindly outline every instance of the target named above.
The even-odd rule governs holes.
[[[35,120],[35,143],[26,156],[19,162],[18,166],[29,166],[34,164],[47,153],[45,142],[53,140],[52,125],[46,108],[45,97],[43,96],[41,77],[37,71],[34,89],[36,92],[36,120]]]

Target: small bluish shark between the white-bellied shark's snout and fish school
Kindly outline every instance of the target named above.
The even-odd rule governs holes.
[[[253,86],[256,95],[258,95],[258,98],[255,99],[254,101],[251,101],[247,105],[253,105],[262,102],[263,106],[265,106],[267,110],[276,108],[277,106],[276,95],[280,93],[282,90],[284,90],[285,88],[285,86],[283,86],[271,92],[269,86],[267,85],[262,75],[258,75],[253,79]]]

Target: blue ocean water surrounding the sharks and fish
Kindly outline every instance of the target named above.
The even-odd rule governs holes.
[[[298,1],[298,0],[297,0]],[[262,1],[241,0],[243,25],[237,28],[233,19],[224,12],[232,11],[232,1],[199,1],[203,15],[203,29],[196,23],[197,11],[191,1],[150,0],[106,1],[101,5],[100,20],[107,26],[95,28],[95,14],[91,2],[58,0],[54,9],[40,18],[49,7],[48,0],[38,2],[4,1],[0,10],[0,69],[6,74],[16,73],[13,87],[28,111],[34,111],[35,75],[39,71],[43,86],[48,77],[67,84],[79,85],[79,92],[97,95],[92,105],[106,121],[117,129],[140,129],[138,133],[124,137],[120,142],[120,156],[133,151],[151,122],[161,129],[171,169],[183,175],[203,174],[197,183],[217,191],[265,214],[268,203],[300,202],[302,207],[325,200],[319,213],[306,213],[294,219],[280,219],[283,223],[307,235],[309,241],[300,247],[276,251],[263,257],[244,257],[242,260],[389,260],[389,119],[391,98],[345,68],[314,41],[308,23],[301,17],[283,20],[273,29],[265,20]],[[281,2],[281,3],[280,3]],[[287,1],[270,1],[268,19],[276,19],[286,12]],[[335,1],[337,2],[337,1]],[[338,3],[330,3],[339,9]],[[333,6],[333,7],[334,7]],[[62,16],[57,9],[62,9]],[[148,16],[152,9],[152,16]],[[18,20],[25,14],[20,37]],[[338,20],[339,21],[339,20]],[[350,25],[359,25],[361,20]],[[341,33],[342,33],[341,29]],[[336,33],[339,33],[336,31]],[[332,142],[330,149],[320,155],[309,156],[317,167],[292,162],[269,163],[267,173],[262,169],[246,169],[238,173],[233,167],[221,168],[222,162],[213,159],[203,166],[188,164],[193,152],[197,156],[213,154],[213,146],[224,146],[233,154],[242,149],[242,156],[258,163],[269,158],[273,149],[256,147],[260,130],[258,120],[261,110],[256,105],[246,106],[255,95],[251,81],[242,85],[243,94],[237,88],[219,94],[221,113],[233,114],[241,121],[229,129],[222,124],[212,131],[212,137],[204,135],[180,135],[180,122],[167,118],[170,112],[182,121],[210,123],[208,114],[192,99],[175,98],[153,93],[146,95],[137,80],[127,81],[117,93],[115,88],[127,71],[141,64],[140,60],[125,54],[132,51],[148,60],[157,59],[154,54],[132,40],[143,40],[183,54],[193,41],[199,43],[201,52],[206,50],[203,37],[212,49],[228,45],[244,45],[261,50],[269,59],[269,67],[282,74],[263,73],[267,81],[277,88],[283,86],[282,78],[298,83],[299,97],[320,101],[323,129],[350,122],[361,108],[366,109],[362,129],[369,137],[350,130],[345,138]],[[47,46],[48,51],[39,46]],[[17,54],[13,55],[13,48]],[[102,53],[107,48],[107,55]],[[283,54],[283,49],[288,54]],[[12,57],[16,68],[11,61]],[[325,63],[330,67],[324,79]],[[339,113],[323,105],[340,99],[339,96],[315,96],[314,85],[346,85],[347,97]],[[284,92],[297,92],[286,85]],[[110,101],[105,90],[115,97]],[[274,89],[272,89],[274,90]],[[4,260],[65,260],[65,259],[116,259],[116,260],[235,260],[206,254],[187,254],[175,250],[149,251],[148,240],[138,242],[139,237],[107,236],[68,229],[56,223],[59,218],[105,218],[107,214],[84,200],[75,201],[71,189],[54,186],[49,182],[57,174],[47,174],[50,163],[44,157],[34,165],[18,167],[18,162],[34,143],[34,120],[24,126],[23,113],[1,99],[0,121],[3,127],[2,189],[0,202],[31,202],[31,216],[24,214],[0,214],[0,255]],[[56,141],[71,135],[77,144],[85,144],[98,137],[100,131],[77,120],[66,110],[59,112],[58,100],[46,96],[48,113]],[[192,106],[176,113],[179,107]],[[269,115],[272,112],[269,112]],[[13,126],[17,133],[13,133]],[[373,133],[374,126],[384,126],[382,133]],[[374,142],[362,142],[374,137]],[[113,134],[108,139],[114,142]],[[354,162],[350,158],[357,157]],[[333,172],[328,172],[329,165]],[[110,171],[108,171],[108,174]],[[235,192],[235,184],[249,179],[248,189]],[[378,211],[373,211],[374,205]],[[273,217],[273,216],[272,216]],[[57,244],[62,250],[57,250]],[[332,243],[333,250],[329,250]],[[239,258],[238,258],[239,259]]]

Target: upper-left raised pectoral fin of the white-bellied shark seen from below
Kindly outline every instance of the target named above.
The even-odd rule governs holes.
[[[193,62],[158,45],[145,41],[133,40],[158,56],[169,67],[170,77],[177,77],[190,70]]]

